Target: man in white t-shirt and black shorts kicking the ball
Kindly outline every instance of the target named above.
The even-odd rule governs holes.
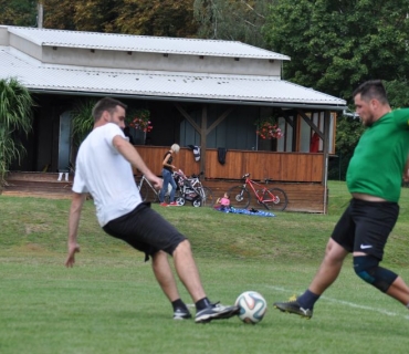
[[[207,298],[193,260],[190,242],[159,214],[141,202],[132,167],[137,168],[160,189],[162,180],[155,176],[126,139],[125,110],[127,106],[109,97],[93,108],[94,129],[78,149],[73,199],[69,220],[69,254],[66,267],[73,267],[81,210],[87,194],[96,208],[96,217],[104,231],[122,239],[153,259],[155,277],[172,304],[174,319],[190,319],[191,314],[180,299],[167,254],[172,256],[175,269],[196,304],[197,323],[229,319],[238,306],[214,304]]]

